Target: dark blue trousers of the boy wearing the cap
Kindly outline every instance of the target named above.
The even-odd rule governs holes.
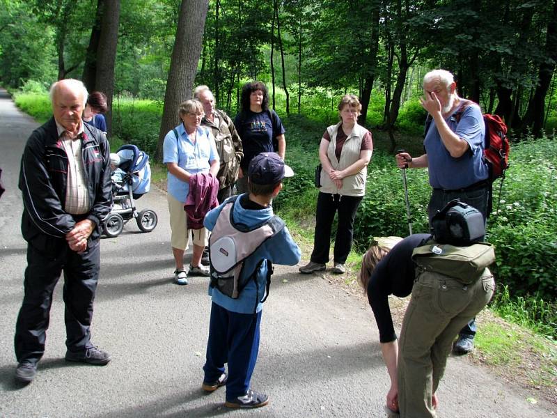
[[[244,396],[249,389],[259,351],[261,312],[237,314],[215,303],[211,305],[203,380],[217,380],[224,373],[224,364],[228,363],[227,401]]]

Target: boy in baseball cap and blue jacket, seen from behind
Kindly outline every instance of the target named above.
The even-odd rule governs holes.
[[[230,222],[243,224],[248,229],[265,224],[274,217],[270,203],[281,191],[283,178],[293,175],[278,154],[256,155],[249,164],[249,193],[232,196],[208,212],[205,227],[213,231],[219,216],[228,214],[230,217],[230,213]],[[240,279],[250,279],[244,280],[245,286],[237,297],[225,295],[218,286],[209,288],[212,306],[202,387],[213,392],[226,385],[225,405],[228,408],[258,408],[269,402],[267,395],[255,392],[249,385],[259,350],[267,277],[272,274],[272,263],[295,265],[299,260],[300,249],[284,226],[244,259]],[[228,374],[225,363],[228,363]]]

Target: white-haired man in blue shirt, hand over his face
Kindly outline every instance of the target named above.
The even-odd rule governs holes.
[[[426,125],[425,154],[411,157],[398,153],[398,167],[427,167],[432,194],[427,206],[430,220],[453,199],[478,209],[487,219],[491,181],[484,159],[485,123],[478,104],[457,95],[453,75],[446,70],[432,70],[423,77],[422,107],[432,123]],[[476,323],[471,320],[458,336],[453,353],[473,350]]]

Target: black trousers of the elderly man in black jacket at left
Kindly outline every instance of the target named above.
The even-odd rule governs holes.
[[[99,240],[89,240],[82,254],[72,251],[63,238],[52,241],[46,250],[27,246],[23,304],[15,325],[17,362],[36,363],[45,353],[52,293],[62,271],[65,344],[70,351],[93,347],[90,328],[100,270]]]

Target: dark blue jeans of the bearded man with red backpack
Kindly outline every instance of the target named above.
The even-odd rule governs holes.
[[[438,210],[443,209],[447,203],[454,199],[460,199],[462,203],[473,206],[480,211],[483,215],[484,222],[487,219],[487,212],[489,210],[489,192],[491,187],[486,184],[485,187],[479,187],[473,190],[442,190],[433,189],[430,203],[427,205],[427,216],[431,219],[437,213]],[[476,318],[472,318],[469,323],[464,325],[464,328],[460,330],[460,338],[471,338],[473,339],[476,335]]]

